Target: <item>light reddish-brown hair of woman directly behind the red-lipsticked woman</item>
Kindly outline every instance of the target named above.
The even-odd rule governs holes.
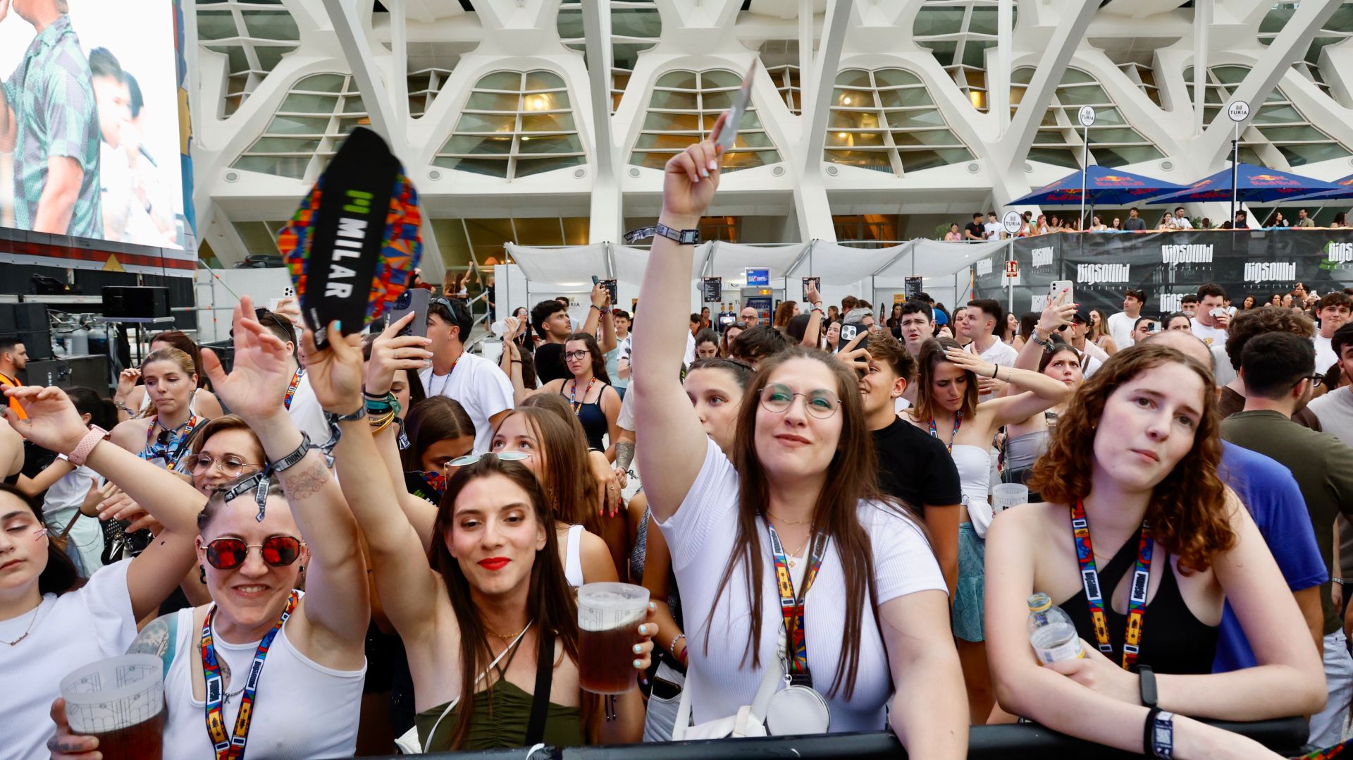
[[[537,393],[509,412],[503,423],[514,416],[526,417],[545,454],[540,486],[551,512],[570,526],[586,526],[601,535],[601,516],[591,508],[595,494],[590,486],[595,478],[587,465],[587,435],[568,402],[552,393]]]

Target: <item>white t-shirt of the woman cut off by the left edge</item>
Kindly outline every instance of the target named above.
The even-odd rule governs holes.
[[[28,630],[14,646],[0,643],[0,673],[7,685],[0,688],[0,755],[7,760],[50,757],[46,741],[57,733],[50,709],[61,696],[61,679],[81,665],[124,654],[135,641],[137,618],[127,592],[130,565],[131,560],[108,565],[84,588],[43,595],[37,612],[0,622],[0,641],[14,641]]]

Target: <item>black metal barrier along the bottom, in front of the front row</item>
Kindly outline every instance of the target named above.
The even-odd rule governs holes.
[[[1303,718],[1283,718],[1256,723],[1208,723],[1247,736],[1264,746],[1291,757],[1302,751],[1308,733]],[[386,760],[395,760],[395,755]],[[526,749],[495,749],[490,752],[441,752],[423,757],[456,760],[528,760]],[[836,759],[836,760],[896,760],[907,757],[907,751],[892,732],[838,733],[802,737],[766,737],[716,741],[672,741],[658,744],[626,744],[617,746],[545,746],[529,760],[750,760],[760,757]],[[967,734],[967,757],[973,760],[1047,760],[1049,757],[1095,757],[1112,760],[1141,757],[1089,741],[1072,738],[1036,723],[973,726]]]

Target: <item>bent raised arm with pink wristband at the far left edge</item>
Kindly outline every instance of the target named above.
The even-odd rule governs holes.
[[[70,454],[89,432],[74,404],[60,387],[23,386],[5,390],[18,398],[27,420],[18,420],[5,408],[9,424],[24,438],[61,454]],[[196,561],[198,512],[206,501],[188,482],[164,467],[107,440],[89,451],[85,465],[118,484],[143,507],[164,530],[127,569],[127,592],[137,619],[154,612]]]

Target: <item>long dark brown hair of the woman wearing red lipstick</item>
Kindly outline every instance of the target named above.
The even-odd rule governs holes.
[[[428,550],[432,568],[441,573],[446,584],[446,596],[460,626],[460,715],[451,734],[449,749],[460,749],[469,737],[469,723],[478,699],[475,680],[488,668],[494,653],[488,648],[487,630],[480,623],[479,611],[469,595],[469,581],[461,572],[460,562],[446,547],[446,534],[456,530],[456,499],[460,492],[471,481],[491,476],[502,476],[525,490],[534,519],[544,526],[545,546],[536,551],[536,560],[530,566],[530,588],[526,592],[526,615],[536,626],[536,635],[541,635],[545,630],[555,631],[564,645],[564,653],[574,661],[578,660],[578,604],[568,588],[568,580],[564,578],[564,568],[559,564],[559,539],[545,492],[541,490],[536,476],[520,462],[505,462],[491,454],[484,455],[474,465],[461,467],[446,484],[446,493],[437,505],[437,522]],[[486,699],[490,702],[492,688],[490,684],[486,690]]]

